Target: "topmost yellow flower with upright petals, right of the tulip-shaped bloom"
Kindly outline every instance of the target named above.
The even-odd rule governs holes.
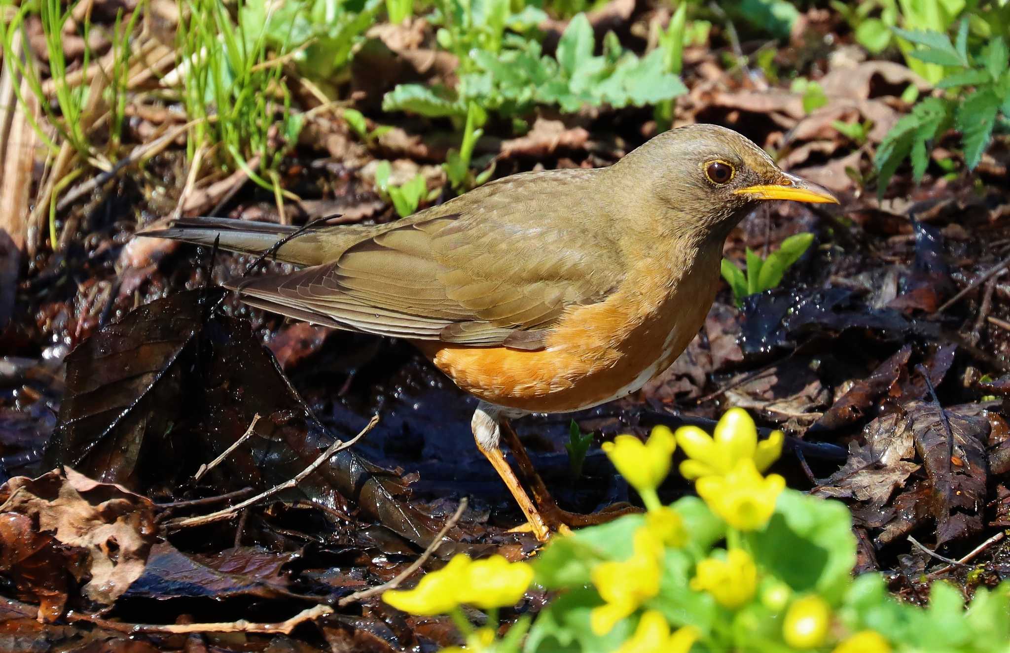
[[[742,408],[726,411],[711,436],[697,426],[682,426],[676,437],[688,456],[681,463],[681,474],[689,480],[728,473],[744,458],[753,460],[763,472],[782,455],[786,439],[782,431],[773,431],[759,442],[758,427]]]

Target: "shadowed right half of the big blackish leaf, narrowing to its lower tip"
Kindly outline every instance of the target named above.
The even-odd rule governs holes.
[[[212,456],[241,437],[256,414],[265,418],[254,437],[218,468],[222,470],[220,482],[230,489],[269,487],[294,477],[332,443],[332,436],[308,411],[248,322],[217,317],[208,322],[204,336],[202,431]],[[362,426],[347,427],[338,436],[349,439]],[[426,545],[438,525],[398,497],[403,492],[394,473],[344,449],[289,495],[338,511],[350,501],[401,536]]]

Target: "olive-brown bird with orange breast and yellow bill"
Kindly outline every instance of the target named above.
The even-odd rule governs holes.
[[[252,307],[416,345],[478,398],[477,447],[545,541],[594,522],[558,508],[509,420],[599,406],[666,370],[704,323],[730,230],[770,200],[838,202],[736,131],[689,124],[606,168],[519,173],[385,224],[180,218],[138,234],[252,254],[289,237],[275,256],[299,269],[225,287]]]

